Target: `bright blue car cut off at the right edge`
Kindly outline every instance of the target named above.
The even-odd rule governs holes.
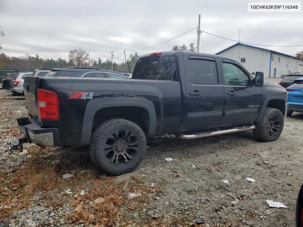
[[[295,79],[287,90],[288,111],[287,116],[293,112],[303,113],[303,77]]]

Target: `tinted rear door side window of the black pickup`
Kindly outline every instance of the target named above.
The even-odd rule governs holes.
[[[189,59],[188,75],[193,84],[218,84],[215,61]]]

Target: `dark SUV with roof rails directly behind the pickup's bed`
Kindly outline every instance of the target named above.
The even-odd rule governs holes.
[[[94,77],[128,79],[128,77],[122,73],[94,67],[67,67],[64,69],[51,69],[46,77]]]

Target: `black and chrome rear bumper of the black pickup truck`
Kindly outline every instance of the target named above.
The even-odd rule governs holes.
[[[32,117],[17,119],[18,125],[29,143],[37,146],[60,146],[60,133],[57,128],[42,128]]]

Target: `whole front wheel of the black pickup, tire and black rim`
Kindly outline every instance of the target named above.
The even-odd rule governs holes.
[[[263,142],[275,141],[284,127],[284,117],[280,110],[266,107],[259,122],[255,122],[253,130],[256,139]]]

